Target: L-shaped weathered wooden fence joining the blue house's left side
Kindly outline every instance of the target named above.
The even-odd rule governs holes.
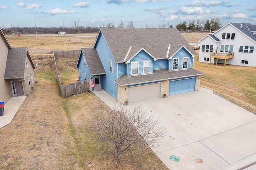
[[[62,98],[66,98],[72,95],[78,95],[78,94],[90,91],[90,80],[78,81],[76,83],[62,85],[60,81],[57,65],[56,65],[55,54],[54,54],[54,64],[55,64],[56,75],[57,75],[58,83],[60,86]]]

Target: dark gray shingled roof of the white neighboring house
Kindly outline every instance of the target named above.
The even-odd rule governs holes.
[[[246,34],[246,36],[250,37],[252,40],[256,42],[256,35],[251,32],[256,30],[255,29],[256,25],[252,25],[250,23],[230,23],[230,24],[236,27],[238,30],[240,30],[241,32]],[[241,28],[241,24],[242,24],[242,28]]]

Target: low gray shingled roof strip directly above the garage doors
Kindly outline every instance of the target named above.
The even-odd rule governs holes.
[[[136,75],[127,76],[127,74],[122,75],[119,79],[115,81],[118,85],[134,85],[138,83],[148,83],[154,81],[170,80],[183,77],[191,77],[196,75],[203,75],[204,73],[197,71],[195,69],[184,69],[178,71],[168,71],[168,69],[154,70],[154,74],[146,75]]]

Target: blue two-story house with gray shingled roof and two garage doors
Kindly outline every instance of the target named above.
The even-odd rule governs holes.
[[[176,28],[101,29],[92,48],[82,48],[79,80],[93,77],[120,103],[199,90],[197,55]]]

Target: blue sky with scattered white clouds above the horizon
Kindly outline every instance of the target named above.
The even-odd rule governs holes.
[[[256,24],[255,0],[0,0],[0,27],[124,27],[132,21],[135,28],[175,27],[199,19],[220,18],[221,24]],[[35,21],[35,22],[34,22]]]

